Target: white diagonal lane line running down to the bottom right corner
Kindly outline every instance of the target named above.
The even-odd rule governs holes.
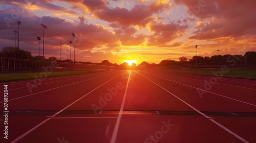
[[[141,74],[140,74],[141,75]],[[141,75],[143,76],[143,75]],[[146,78],[147,80],[155,83],[154,81],[148,79],[147,77],[143,76],[144,78]],[[162,88],[163,90],[165,90],[166,92],[172,94],[172,96],[174,96],[175,98],[177,98],[178,100],[180,100],[181,102],[185,103],[187,106],[189,106],[190,108],[194,109],[195,111],[197,111],[199,114],[203,115],[204,117],[206,117],[208,120],[210,120],[211,122],[215,123],[216,125],[218,125],[219,127],[221,127],[222,129],[224,129],[225,131],[227,131],[228,133],[232,134],[233,136],[237,137],[238,139],[240,139],[243,142],[248,142],[247,140],[245,140],[244,138],[242,138],[241,136],[239,136],[238,134],[232,132],[231,130],[229,130],[228,128],[224,127],[223,125],[219,124],[218,122],[216,122],[212,117],[207,116],[206,114],[202,113],[201,111],[199,111],[198,109],[196,109],[195,107],[191,106],[190,104],[186,103],[185,101],[183,101],[182,99],[180,99],[179,97],[175,96],[175,94],[173,94],[172,92],[168,91],[167,89],[163,88],[162,86],[158,85],[157,83],[155,83],[157,86],[159,86],[160,88]]]

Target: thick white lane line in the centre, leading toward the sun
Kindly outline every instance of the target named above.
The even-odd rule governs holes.
[[[112,137],[111,137],[111,141],[110,141],[111,143],[115,143],[115,142],[116,142],[116,137],[117,137],[117,133],[118,133],[118,128],[119,128],[120,121],[121,121],[121,116],[122,116],[122,114],[123,114],[123,106],[124,106],[124,102],[125,102],[125,98],[126,98],[126,93],[127,93],[127,89],[128,89],[128,84],[129,84],[129,81],[130,81],[130,75],[131,75],[131,70],[130,70],[129,77],[128,77],[128,81],[127,81],[127,84],[126,84],[126,88],[125,88],[125,92],[124,92],[124,96],[123,96],[122,105],[121,105],[121,108],[120,108],[120,111],[119,111],[119,114],[118,114],[118,117],[117,117],[117,120],[116,120],[116,125],[115,125],[115,128],[114,128]]]

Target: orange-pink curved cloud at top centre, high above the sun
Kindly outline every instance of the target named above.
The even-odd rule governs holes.
[[[131,10],[126,8],[110,8],[108,2],[101,0],[87,0],[83,4],[92,11],[96,18],[109,22],[118,22],[122,25],[143,26],[152,21],[154,13],[163,12],[170,9],[170,3],[158,1],[150,5],[135,5]]]

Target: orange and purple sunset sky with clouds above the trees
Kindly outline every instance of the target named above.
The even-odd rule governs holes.
[[[38,55],[37,36],[45,29],[45,56],[121,64],[125,60],[159,63],[199,56],[256,51],[255,0],[2,0],[0,50],[14,46]],[[17,35],[16,35],[17,39]],[[16,42],[17,45],[17,42]],[[73,44],[71,44],[73,57]],[[42,55],[42,40],[40,41]]]

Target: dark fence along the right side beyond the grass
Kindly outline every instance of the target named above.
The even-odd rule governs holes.
[[[162,66],[161,69],[220,69],[223,66],[227,66],[229,69],[256,69],[256,60],[171,65]]]

